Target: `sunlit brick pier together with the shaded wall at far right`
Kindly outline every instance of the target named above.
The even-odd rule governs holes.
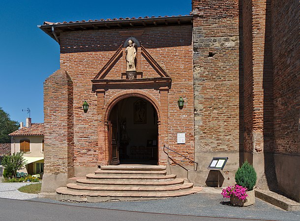
[[[244,153],[258,186],[300,200],[299,1],[241,1]],[[297,186],[297,187],[296,187]]]

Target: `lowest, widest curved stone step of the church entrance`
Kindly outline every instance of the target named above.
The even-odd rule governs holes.
[[[145,200],[145,199],[157,199],[166,197],[175,197],[189,195],[192,193],[200,192],[202,187],[193,187],[188,190],[181,190],[178,192],[135,192],[135,193],[120,193],[120,192],[78,192],[68,190],[66,187],[60,187],[57,191],[57,200],[61,201],[76,201],[76,202],[103,202],[108,200]]]

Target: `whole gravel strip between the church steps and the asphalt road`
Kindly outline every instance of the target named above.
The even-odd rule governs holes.
[[[300,212],[288,212],[265,201],[255,198],[255,205],[248,207],[231,206],[228,199],[222,198],[220,190],[204,189],[203,192],[157,200],[112,201],[99,203],[70,203],[51,199],[37,198],[36,194],[17,191],[30,183],[0,183],[0,198],[26,199],[30,201],[83,206],[92,208],[115,209],[136,212],[150,212],[177,215],[208,217],[227,217],[240,219],[300,221]]]

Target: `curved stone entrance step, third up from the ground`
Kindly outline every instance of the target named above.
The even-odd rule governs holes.
[[[169,181],[163,181],[160,180],[159,182],[157,181],[130,181],[130,180],[125,180],[125,181],[114,181],[112,182],[111,180],[88,180],[86,178],[79,178],[76,180],[76,183],[81,186],[111,186],[111,187],[117,187],[120,185],[123,185],[125,187],[136,187],[136,186],[142,186],[142,187],[159,187],[159,186],[176,186],[183,184],[184,180],[183,179],[173,179]]]

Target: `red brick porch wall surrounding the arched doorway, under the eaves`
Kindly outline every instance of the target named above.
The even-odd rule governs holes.
[[[122,55],[109,72],[103,76],[104,80],[121,80],[122,82],[105,86],[92,85],[91,80],[114,55],[120,45],[124,44],[128,35],[132,35],[145,47],[147,52],[168,73],[172,82],[166,85],[158,82],[128,84],[130,80],[121,80],[121,73],[125,72],[125,60]],[[62,72],[61,70],[66,72],[73,83],[75,166],[109,164],[109,132],[106,125],[109,113],[118,101],[132,96],[148,100],[156,109],[159,131],[158,163],[166,164],[166,157],[162,155],[163,145],[170,146],[184,156],[193,159],[194,100],[191,39],[191,25],[61,33],[61,69],[59,72]],[[138,68],[141,69],[138,71],[143,72],[143,79],[160,77],[141,54],[138,54],[138,62],[140,62]],[[55,78],[55,75],[51,77]],[[46,83],[48,82],[49,80],[46,81]],[[49,93],[45,88],[45,107],[48,106],[48,99],[54,98]],[[179,97],[183,97],[185,100],[182,110],[177,104]],[[90,104],[87,113],[84,113],[81,108],[85,100]],[[48,114],[52,116],[51,112],[45,111],[45,123],[49,117]],[[50,131],[51,129],[48,129],[49,133]],[[180,132],[186,133],[185,144],[177,144],[177,133]],[[50,136],[48,140],[52,140],[52,138]],[[45,145],[47,145],[46,141]],[[182,159],[174,156],[174,160]]]

